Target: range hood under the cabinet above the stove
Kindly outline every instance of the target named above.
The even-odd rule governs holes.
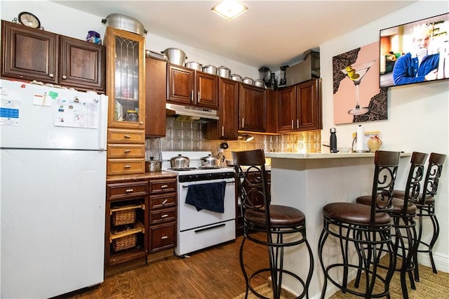
[[[167,116],[178,117],[182,121],[216,121],[217,110],[177,104],[166,104]]]

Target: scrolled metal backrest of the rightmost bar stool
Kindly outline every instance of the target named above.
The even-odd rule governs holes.
[[[432,152],[429,157],[429,163],[427,164],[427,173],[424,180],[424,190],[420,199],[420,204],[426,204],[426,197],[435,197],[438,190],[438,182],[441,177],[441,171],[443,170],[443,164],[445,162],[445,154],[437,154]]]

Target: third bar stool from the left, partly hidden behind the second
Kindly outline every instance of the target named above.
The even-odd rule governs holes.
[[[401,265],[395,266],[395,270],[401,272],[401,288],[403,298],[408,298],[408,289],[406,276],[410,279],[410,287],[415,288],[415,281],[413,280],[413,269],[415,265],[413,263],[413,256],[417,249],[417,233],[415,216],[417,208],[415,204],[420,198],[421,181],[424,178],[424,163],[427,160],[428,154],[422,152],[413,152],[410,158],[410,171],[408,172],[408,178],[406,182],[406,192],[403,192],[403,199],[397,199],[394,197],[391,200],[393,209],[389,212],[393,219],[394,227],[394,252],[396,257],[400,256]],[[366,195],[357,197],[357,204],[371,204],[371,196]],[[406,232],[404,235],[403,232]],[[398,251],[401,251],[398,253]],[[382,266],[380,266],[382,267]],[[360,274],[360,273],[358,273]]]

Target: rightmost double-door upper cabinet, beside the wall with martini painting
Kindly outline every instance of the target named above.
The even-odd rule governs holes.
[[[279,133],[321,129],[321,79],[281,89],[278,118]]]

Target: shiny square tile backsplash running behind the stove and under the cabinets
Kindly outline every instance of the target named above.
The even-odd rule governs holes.
[[[203,124],[198,121],[177,121],[168,118],[166,137],[145,140],[146,159],[161,151],[210,151],[217,155],[225,140],[206,140]],[[250,134],[255,138],[250,142],[228,141],[229,148],[222,151],[226,159],[232,159],[232,151],[263,149],[265,152],[321,152],[321,131],[303,131],[286,135]]]

